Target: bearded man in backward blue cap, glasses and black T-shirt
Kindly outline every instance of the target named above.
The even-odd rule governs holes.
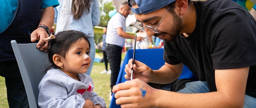
[[[152,70],[129,60],[125,78],[113,87],[122,108],[253,108],[256,106],[256,22],[231,0],[128,0],[147,36],[164,40],[165,64]],[[140,22],[140,23],[138,23]],[[168,84],[186,65],[199,81],[178,92],[154,89]]]

